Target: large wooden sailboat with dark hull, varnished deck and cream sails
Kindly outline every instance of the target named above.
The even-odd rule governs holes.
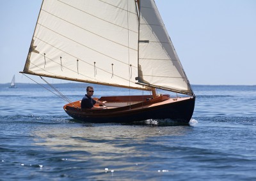
[[[81,100],[63,106],[83,122],[188,123],[195,107],[154,0],[44,0],[20,73],[142,90],[138,96],[99,98],[108,109],[82,109]]]

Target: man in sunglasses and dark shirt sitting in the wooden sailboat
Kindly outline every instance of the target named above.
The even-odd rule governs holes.
[[[100,102],[95,99],[92,99],[93,96],[93,87],[88,86],[86,87],[86,94],[84,95],[82,101],[81,101],[81,108],[83,109],[106,109],[106,101]],[[94,106],[96,103],[98,103],[100,106]]]

